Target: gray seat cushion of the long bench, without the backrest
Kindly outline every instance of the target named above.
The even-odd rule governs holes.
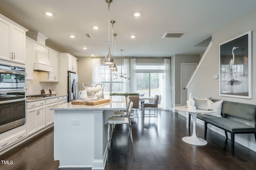
[[[254,132],[255,128],[246,125],[244,123],[240,123],[238,121],[233,121],[224,117],[214,117],[209,115],[198,114],[199,119],[212,123],[218,127],[222,127],[230,132]]]

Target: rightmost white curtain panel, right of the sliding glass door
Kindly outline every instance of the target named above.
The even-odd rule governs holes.
[[[164,110],[171,110],[171,72],[170,72],[170,59],[164,59],[164,96],[163,96],[163,108]]]

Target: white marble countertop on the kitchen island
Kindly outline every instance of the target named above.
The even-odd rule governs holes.
[[[98,104],[95,106],[90,105],[75,105],[71,102],[54,106],[50,110],[126,110],[125,96],[109,96],[110,102]]]

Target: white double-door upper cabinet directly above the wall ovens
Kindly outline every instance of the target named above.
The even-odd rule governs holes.
[[[0,59],[26,64],[26,31],[0,14]]]

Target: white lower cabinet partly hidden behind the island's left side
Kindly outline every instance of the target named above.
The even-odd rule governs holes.
[[[54,110],[50,108],[58,105],[58,98],[47,99],[45,103],[45,126],[48,126],[54,122]]]

